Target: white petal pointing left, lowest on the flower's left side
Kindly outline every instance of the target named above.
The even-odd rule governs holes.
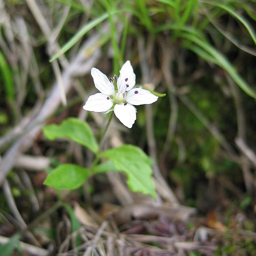
[[[113,106],[113,102],[108,98],[108,95],[100,92],[93,94],[87,99],[83,109],[94,112],[107,111]]]

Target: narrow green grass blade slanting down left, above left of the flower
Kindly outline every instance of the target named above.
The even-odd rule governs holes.
[[[67,52],[74,44],[76,44],[79,39],[81,39],[88,31],[90,31],[95,26],[99,25],[103,20],[106,20],[108,18],[108,13],[102,14],[97,19],[94,19],[90,22],[88,22],[84,27],[82,27],[78,32],[65,44],[61,47],[60,51],[56,53],[50,62],[54,61],[55,59],[59,58],[62,54]]]

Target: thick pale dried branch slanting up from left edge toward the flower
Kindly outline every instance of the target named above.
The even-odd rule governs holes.
[[[69,91],[71,88],[71,81],[74,74],[71,70],[84,70],[84,75],[89,73],[91,67],[98,61],[100,57],[100,51],[95,50],[89,58],[86,58],[84,52],[86,49],[92,47],[97,44],[99,40],[99,35],[95,35],[90,37],[90,39],[81,47],[81,50],[78,52],[76,58],[70,63],[68,68],[66,68],[62,72],[63,85],[65,91]],[[34,142],[38,134],[41,132],[41,129],[47,119],[54,111],[58,108],[60,104],[60,93],[58,83],[53,85],[53,89],[50,92],[49,96],[46,98],[43,106],[41,107],[37,116],[28,124],[27,133],[24,134],[21,138],[19,138],[13,146],[8,149],[2,159],[0,165],[0,185],[5,179],[6,174],[11,170],[14,166],[15,161],[13,159],[17,159],[18,156],[25,152]]]

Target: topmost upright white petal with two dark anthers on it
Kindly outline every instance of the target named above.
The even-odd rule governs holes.
[[[135,74],[130,60],[127,60],[120,70],[120,76],[117,79],[118,92],[124,93],[130,91],[135,85]]]

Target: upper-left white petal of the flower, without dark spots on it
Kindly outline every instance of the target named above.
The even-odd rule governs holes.
[[[108,77],[104,75],[99,69],[92,68],[91,75],[95,87],[102,93],[107,95],[114,95],[115,89],[114,85],[109,81]]]

